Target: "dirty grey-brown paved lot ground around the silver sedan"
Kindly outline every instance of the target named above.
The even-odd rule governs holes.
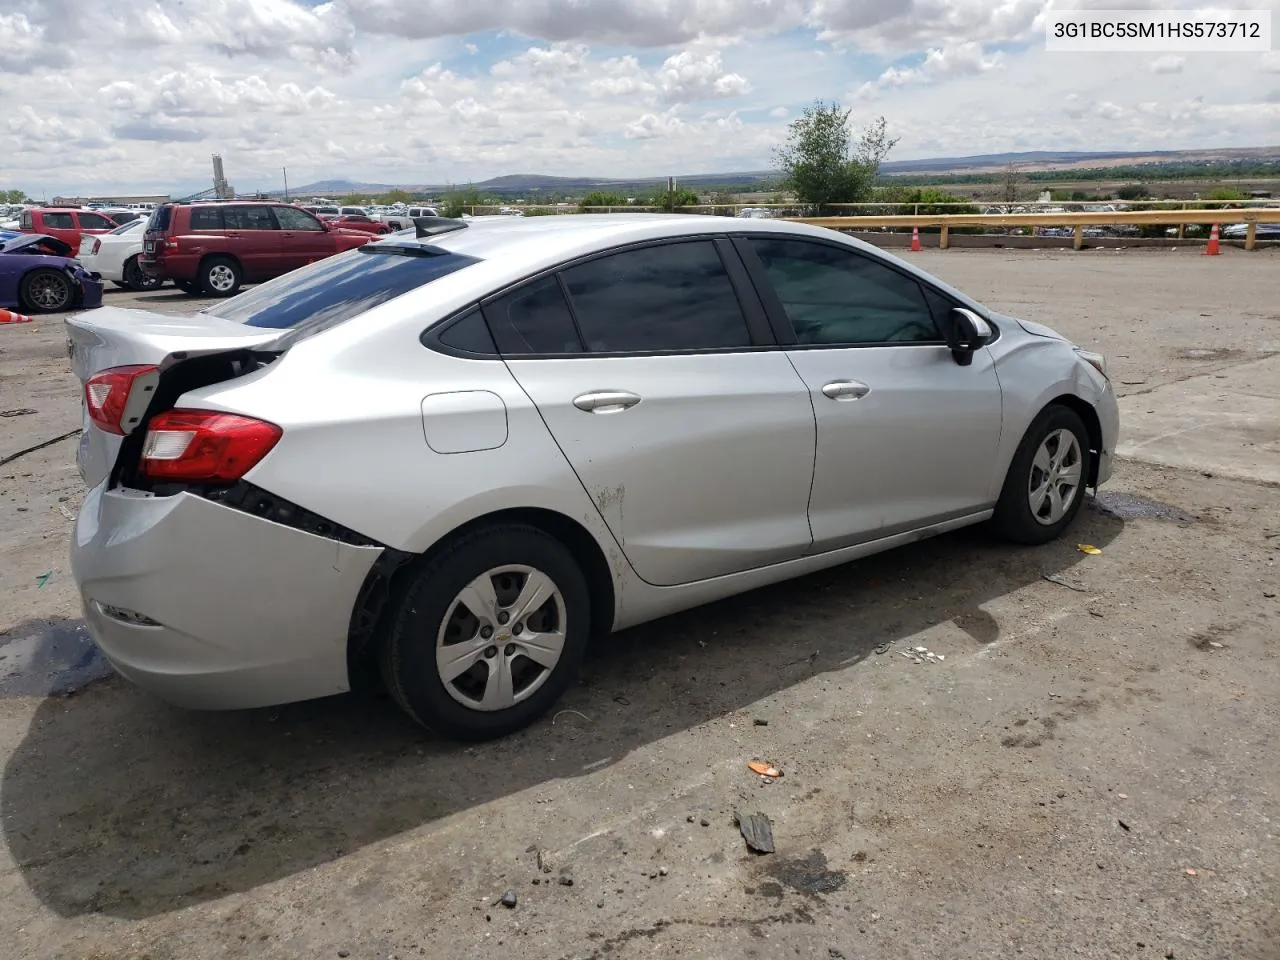
[[[914,256],[1111,357],[1128,456],[1069,540],[628,631],[503,742],[83,682],[76,439],[0,466],[0,952],[1280,957],[1280,251]],[[0,328],[0,458],[79,426],[63,344]]]

